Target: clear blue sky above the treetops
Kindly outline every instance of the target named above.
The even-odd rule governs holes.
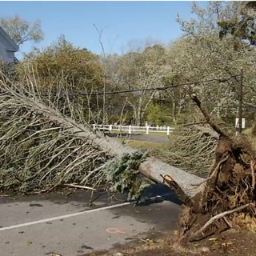
[[[190,1],[174,2],[0,2],[0,18],[18,15],[29,22],[41,20],[45,39],[26,43],[21,52],[32,46],[49,46],[61,34],[74,46],[102,54],[98,30],[107,54],[121,54],[127,44],[153,38],[164,44],[178,38],[182,31],[175,22],[177,13],[191,18]],[[202,2],[205,5],[206,2]],[[20,55],[20,54],[19,54]]]

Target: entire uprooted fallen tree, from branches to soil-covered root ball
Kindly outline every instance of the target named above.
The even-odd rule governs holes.
[[[70,146],[73,145],[72,140],[78,140],[80,144],[78,144],[78,147],[75,146],[75,148],[80,150],[82,146],[89,145],[89,152],[92,150],[95,153],[95,156],[91,157],[91,153],[89,154],[88,150],[85,150],[82,153],[80,152],[78,157],[75,157],[75,150],[72,150],[70,153],[73,154],[74,158],[71,158],[73,160],[69,160],[70,162],[65,167],[64,177],[67,177],[66,175],[70,173],[74,174],[73,177],[82,173],[82,181],[81,176],[78,179],[80,183],[85,182],[88,177],[91,175],[91,177],[94,177],[94,174],[97,174],[99,170],[106,166],[107,177],[109,182],[112,182],[112,186],[116,186],[115,189],[117,190],[129,190],[132,194],[135,194],[136,190],[141,190],[145,187],[142,184],[142,179],[138,177],[139,173],[153,182],[163,182],[174,190],[184,203],[179,220],[181,241],[193,241],[213,234],[216,230],[225,230],[231,226],[243,228],[244,222],[242,222],[241,216],[246,216],[244,218],[248,221],[246,222],[246,227],[254,226],[254,151],[243,138],[230,138],[230,136],[220,130],[210,120],[206,110],[195,95],[192,95],[192,99],[196,102],[202,114],[204,114],[206,122],[209,123],[214,133],[218,134],[219,137],[214,167],[210,171],[209,178],[206,179],[189,174],[180,168],[170,166],[157,158],[147,157],[145,154],[139,153],[129,146],[122,145],[121,142],[114,138],[108,138],[99,132],[94,133],[86,122],[77,122],[74,118],[66,117],[58,109],[54,108],[52,104],[46,104],[36,93],[31,94],[30,91],[20,90],[19,87],[11,83],[1,82],[0,106],[2,112],[0,114],[2,118],[6,118],[2,125],[8,126],[8,123],[11,123],[15,126],[16,124],[10,121],[10,118],[17,116],[18,121],[20,121],[19,113],[22,113],[22,117],[35,115],[34,120],[38,120],[37,117],[39,117],[44,122],[54,124],[52,128],[47,128],[48,130],[56,129],[58,134],[64,134],[64,136],[70,138]],[[31,123],[35,125],[33,118],[30,118],[29,124],[22,128],[22,133],[24,129],[26,132],[30,130]],[[42,122],[40,123],[42,124]],[[6,147],[6,150],[8,150],[10,144],[4,144],[4,142],[13,142],[11,140],[14,140],[17,135],[8,134],[8,132],[6,134],[3,134],[0,138],[2,150],[3,147]],[[29,136],[26,134],[26,138],[31,138],[31,136],[33,137],[36,134],[42,134],[42,131],[36,132],[33,130],[33,134]],[[58,134],[55,134],[57,138]],[[8,137],[7,140],[5,136]],[[20,145],[21,143],[19,142],[18,146]],[[38,143],[38,146],[41,146],[41,143]],[[50,146],[44,147],[44,151],[40,152],[40,154],[45,154]],[[18,150],[20,150],[20,147],[18,147]],[[61,155],[62,150],[58,148],[57,154]],[[16,151],[13,151],[14,154],[17,153]],[[89,158],[92,161],[87,161],[86,155],[90,156]],[[5,156],[6,154],[2,154],[2,158],[5,158]],[[100,161],[98,161],[99,156]],[[53,157],[56,158],[54,152],[46,162],[43,162],[43,166],[40,167],[38,172],[42,172],[44,166],[50,166]],[[26,159],[23,160],[26,161]],[[4,162],[5,160],[2,161]],[[64,163],[66,163],[65,161],[66,159]],[[75,163],[76,161],[78,162]],[[87,168],[91,162],[97,162],[97,165],[91,166],[86,171],[78,169],[73,172],[75,167],[86,163],[84,167]],[[57,162],[55,163],[56,165],[58,166]],[[21,168],[25,168],[25,166],[21,166]],[[23,184],[24,180],[19,177],[17,178],[14,170],[12,174],[12,178],[19,179],[19,182]],[[52,177],[56,176],[56,173],[47,172],[47,174],[52,174]],[[104,176],[104,172],[100,172],[100,174]],[[33,180],[34,176],[30,177],[30,181]],[[3,182],[4,179],[2,178]],[[43,179],[41,178],[41,180]],[[60,178],[56,186],[61,185],[63,182],[63,178]]]

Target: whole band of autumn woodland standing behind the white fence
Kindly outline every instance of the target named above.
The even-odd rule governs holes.
[[[242,5],[210,2],[204,10],[194,4],[196,20],[177,18],[184,31],[181,38],[167,46],[150,38],[134,46],[130,43],[124,54],[96,55],[73,46],[62,35],[50,46],[26,54],[18,66],[18,78],[35,76],[38,88],[46,92],[50,89],[53,94],[61,84],[72,102],[82,104],[90,123],[126,122],[140,126],[148,121],[154,126],[177,125],[193,114],[189,96],[193,90],[211,116],[234,127],[239,99],[239,77],[235,76],[243,68],[244,118],[250,126],[254,124],[255,105],[254,46],[240,40],[239,34],[236,38],[229,34],[220,38],[222,28],[218,26],[220,20],[235,19]],[[222,82],[226,78],[231,79]],[[185,85],[174,86],[178,84]],[[170,90],[153,90],[172,85]],[[105,97],[101,94],[137,89],[140,91]]]

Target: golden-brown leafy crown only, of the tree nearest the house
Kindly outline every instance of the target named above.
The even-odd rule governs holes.
[[[102,66],[98,56],[85,48],[73,46],[66,41],[64,35],[50,46],[26,54],[22,67],[27,65],[33,67],[42,80],[65,78],[70,86],[69,90],[75,90],[77,93],[101,89]]]

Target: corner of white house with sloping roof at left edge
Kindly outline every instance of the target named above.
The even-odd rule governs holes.
[[[17,58],[15,58],[15,52],[17,51],[17,44],[0,26],[0,59],[4,62],[17,62]]]

